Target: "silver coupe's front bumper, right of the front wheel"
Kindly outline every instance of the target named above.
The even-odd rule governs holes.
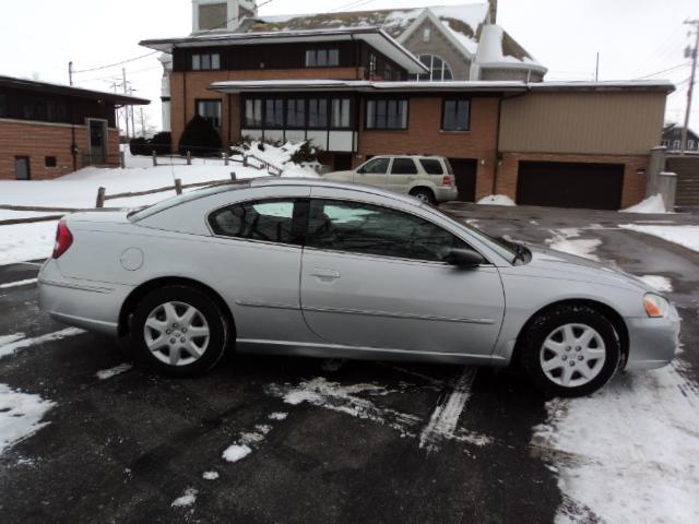
[[[626,319],[629,331],[629,358],[627,370],[655,369],[667,366],[679,346],[680,319],[671,303],[670,314],[664,319]]]

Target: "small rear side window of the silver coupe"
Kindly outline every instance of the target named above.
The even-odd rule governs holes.
[[[303,231],[294,221],[295,199],[241,202],[214,211],[209,224],[223,237],[300,245]]]

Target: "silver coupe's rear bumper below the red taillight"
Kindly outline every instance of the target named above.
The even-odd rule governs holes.
[[[52,319],[84,330],[117,335],[121,305],[132,287],[66,278],[56,261],[42,267],[39,307]]]

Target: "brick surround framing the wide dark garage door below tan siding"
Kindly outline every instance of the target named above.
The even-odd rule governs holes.
[[[566,155],[546,153],[505,153],[498,169],[498,194],[507,194],[512,200],[517,198],[517,179],[519,163],[532,162],[582,162],[599,164],[624,164],[624,190],[621,207],[639,203],[645,196],[645,170],[650,155],[616,156],[616,155]]]

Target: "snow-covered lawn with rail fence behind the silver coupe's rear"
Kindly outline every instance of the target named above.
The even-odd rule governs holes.
[[[292,154],[300,144],[287,143],[281,147],[265,145],[264,151],[251,144],[250,152],[257,157],[284,169],[282,177],[317,178],[309,167],[291,164]],[[236,156],[234,158],[241,159]],[[162,162],[170,162],[168,158]],[[97,189],[106,188],[107,195],[115,193],[146,191],[175,184],[179,178],[182,184],[229,180],[230,171],[238,179],[269,176],[265,170],[242,167],[239,162],[224,165],[221,158],[194,158],[186,165],[182,158],[171,160],[174,166],[153,166],[151,157],[127,154],[127,168],[86,167],[55,180],[0,180],[0,205],[48,206],[92,209],[95,206]],[[251,159],[250,163],[256,163]],[[259,163],[258,163],[259,164]],[[193,191],[186,189],[185,191]],[[130,199],[108,200],[106,206],[138,207],[151,205],[175,196],[175,190]],[[29,218],[60,213],[16,212],[0,210],[0,219]],[[0,226],[0,265],[25,260],[45,259],[51,254],[56,238],[56,222]]]

